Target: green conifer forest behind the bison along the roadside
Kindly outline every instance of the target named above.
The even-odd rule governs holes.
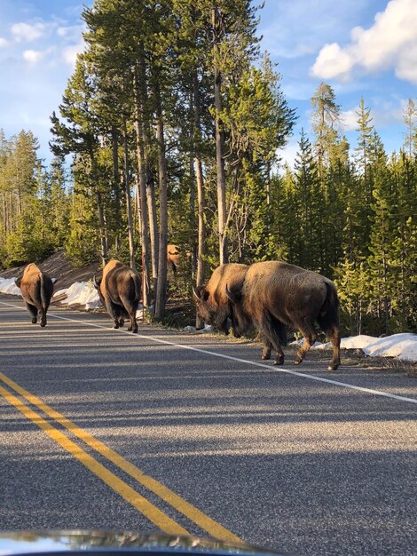
[[[345,334],[417,331],[417,102],[384,150],[366,99],[357,141],[334,89],[296,110],[261,52],[249,0],[96,0],[86,49],[51,114],[49,167],[31,131],[0,131],[0,266],[65,250],[145,276],[154,318],[227,262],[284,259],[334,280]],[[182,264],[174,278],[167,244]],[[169,289],[167,289],[169,282]]]

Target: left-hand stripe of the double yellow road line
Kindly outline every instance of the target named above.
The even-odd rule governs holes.
[[[133,488],[130,488],[128,484],[119,479],[116,475],[114,475],[114,473],[108,471],[106,467],[99,464],[93,457],[90,457],[90,455],[87,454],[87,452],[84,452],[84,450],[75,444],[75,442],[70,441],[65,434],[60,433],[59,430],[54,428],[39,414],[35,413],[35,411],[23,403],[23,401],[20,401],[18,398],[13,396],[12,393],[9,393],[2,386],[0,386],[0,394],[16,409],[19,409],[20,413],[22,413],[35,425],[39,426],[44,433],[51,437],[53,441],[58,442],[63,449],[66,449],[67,452],[90,469],[92,473],[97,475],[101,481],[104,481],[106,485],[113,488],[115,492],[120,494],[139,512],[143,513],[146,518],[151,520],[158,528],[161,528],[162,531],[173,535],[188,535],[188,531],[186,531],[185,528],[178,525],[176,521],[171,520],[168,515],[161,512],[161,510],[159,510],[156,506],[148,502],[146,498],[138,494],[138,492],[136,492]]]

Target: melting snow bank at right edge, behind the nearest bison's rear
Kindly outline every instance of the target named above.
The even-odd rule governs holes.
[[[299,345],[303,340],[296,340],[292,345]],[[311,349],[331,349],[332,345],[316,342]],[[369,357],[396,357],[400,361],[417,362],[417,334],[393,334],[385,338],[374,336],[351,336],[342,338],[342,349],[361,349]]]

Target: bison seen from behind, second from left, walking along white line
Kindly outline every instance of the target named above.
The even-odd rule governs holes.
[[[123,326],[130,319],[128,330],[138,332],[136,312],[140,301],[141,282],[137,272],[118,260],[109,261],[100,276],[94,274],[94,285],[102,305],[114,319],[114,328]]]

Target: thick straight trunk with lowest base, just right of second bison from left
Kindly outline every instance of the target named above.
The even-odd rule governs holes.
[[[161,319],[165,314],[167,302],[167,243],[168,243],[168,195],[167,195],[167,164],[165,159],[165,139],[161,110],[161,98],[156,90],[156,140],[158,143],[158,178],[160,201],[160,233],[158,282],[155,298],[155,317]]]

